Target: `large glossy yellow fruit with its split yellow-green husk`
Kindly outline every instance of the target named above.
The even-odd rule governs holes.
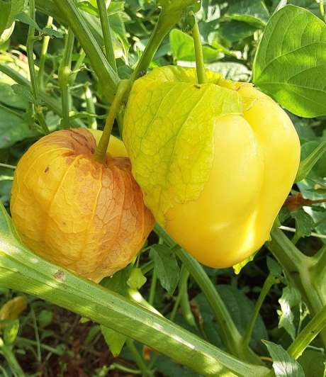
[[[161,67],[135,81],[123,141],[145,203],[203,264],[237,264],[269,239],[300,161],[293,124],[252,84]]]

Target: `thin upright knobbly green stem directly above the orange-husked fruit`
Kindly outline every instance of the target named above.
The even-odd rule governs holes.
[[[61,89],[61,101],[63,112],[63,128],[69,128],[69,113],[72,105],[72,99],[69,94],[69,82],[72,74],[72,52],[74,50],[74,33],[69,28],[64,43],[62,61],[59,68],[59,85]]]

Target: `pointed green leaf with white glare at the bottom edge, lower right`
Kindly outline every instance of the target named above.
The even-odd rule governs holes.
[[[273,342],[262,341],[273,359],[273,368],[276,377],[305,377],[303,368],[293,359],[283,347]]]

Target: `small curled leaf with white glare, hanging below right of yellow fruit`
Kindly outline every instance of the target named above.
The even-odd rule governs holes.
[[[283,327],[292,339],[296,336],[296,327],[293,324],[293,308],[299,305],[301,300],[300,292],[293,286],[286,286],[283,288],[283,293],[279,299],[281,310],[278,310],[279,328]]]

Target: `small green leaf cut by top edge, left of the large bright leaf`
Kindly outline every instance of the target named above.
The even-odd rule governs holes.
[[[269,11],[262,0],[231,1],[227,15],[233,20],[261,27],[265,26],[269,19]]]

